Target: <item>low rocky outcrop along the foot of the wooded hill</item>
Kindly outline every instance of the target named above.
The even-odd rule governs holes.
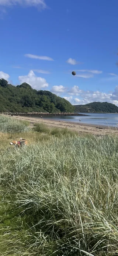
[[[0,113],[0,114],[4,114],[4,115],[12,115],[12,116],[28,116],[28,117],[33,117],[33,116],[37,116],[37,117],[48,117],[48,116],[61,116],[61,117],[64,117],[64,116],[82,116],[84,114],[79,114],[79,113],[63,113],[63,112],[59,112],[59,113],[49,113],[49,112],[27,112],[27,113],[18,113],[18,112],[15,112],[15,113],[8,113],[8,112],[5,112],[5,113]],[[84,115],[84,116],[87,116],[87,115]]]

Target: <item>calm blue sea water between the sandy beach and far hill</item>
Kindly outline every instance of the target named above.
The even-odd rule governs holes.
[[[87,114],[87,113],[81,113]],[[80,122],[84,124],[95,124],[95,125],[108,125],[111,127],[118,127],[118,114],[98,114],[90,113],[89,116],[66,116],[66,117],[50,117],[51,119],[68,122]],[[48,117],[49,118],[49,117]]]

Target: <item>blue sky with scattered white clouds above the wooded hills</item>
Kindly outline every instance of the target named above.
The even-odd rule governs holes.
[[[118,0],[0,0],[0,77],[118,105],[117,13]]]

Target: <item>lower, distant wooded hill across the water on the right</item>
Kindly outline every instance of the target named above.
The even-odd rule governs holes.
[[[118,113],[118,107],[108,102],[92,102],[86,105],[75,105],[76,112],[95,112],[95,113]]]

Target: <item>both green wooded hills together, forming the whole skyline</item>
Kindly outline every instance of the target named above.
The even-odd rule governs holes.
[[[118,113],[118,107],[108,102],[92,102],[86,105],[73,106],[69,101],[50,91],[34,90],[26,82],[14,86],[1,78],[0,112]]]

